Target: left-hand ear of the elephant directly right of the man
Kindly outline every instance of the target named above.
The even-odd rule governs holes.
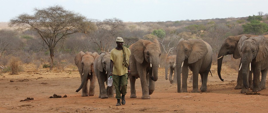
[[[134,54],[134,58],[138,63],[143,63],[144,60],[144,47],[148,43],[148,40],[138,40],[131,47],[131,54]]]

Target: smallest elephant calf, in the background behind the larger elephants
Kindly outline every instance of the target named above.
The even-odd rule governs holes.
[[[165,79],[167,80],[168,69],[170,69],[169,81],[170,83],[177,83],[177,71],[176,71],[176,55],[170,55],[165,60]],[[172,79],[174,71],[174,77]]]

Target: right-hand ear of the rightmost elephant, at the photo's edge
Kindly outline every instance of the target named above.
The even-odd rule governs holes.
[[[259,38],[259,50],[256,55],[256,62],[264,61],[268,57],[268,39],[264,36],[259,36],[256,38]]]

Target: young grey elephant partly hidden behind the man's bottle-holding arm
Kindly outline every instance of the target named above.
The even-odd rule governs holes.
[[[101,98],[101,99],[114,97],[113,95],[114,85],[110,87],[107,86],[107,88],[105,88],[105,85],[104,85],[105,82],[107,84],[107,80],[110,77],[109,76],[110,62],[111,61],[110,61],[109,52],[101,52],[101,54],[98,57],[96,57],[96,59],[94,60],[94,71],[97,76],[98,84],[100,88],[100,94],[98,98]]]

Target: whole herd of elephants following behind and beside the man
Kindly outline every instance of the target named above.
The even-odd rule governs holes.
[[[155,81],[158,79],[158,67],[160,63],[160,44],[154,39],[138,40],[129,46],[131,55],[129,58],[129,68],[131,95],[130,98],[137,98],[135,81],[140,78],[142,88],[142,99],[150,99],[150,95],[155,90]],[[165,61],[165,79],[167,71],[170,69],[170,83],[177,83],[178,92],[187,91],[187,78],[189,70],[192,71],[191,82],[192,92],[207,91],[208,73],[212,64],[212,48],[202,39],[180,39],[176,46],[176,55],[167,57]],[[261,91],[265,88],[265,80],[268,71],[268,35],[255,36],[242,34],[239,36],[228,36],[218,52],[218,76],[221,78],[221,65],[224,55],[232,54],[234,59],[241,58],[235,89],[241,89],[241,93]],[[114,86],[105,87],[110,73],[109,52],[79,52],[75,58],[75,65],[81,76],[80,87],[81,96],[94,96],[96,78],[99,84],[98,98],[113,97]],[[174,77],[172,79],[174,71]],[[261,73],[261,82],[260,79]],[[182,74],[182,80],[181,75]],[[198,75],[201,76],[202,85],[198,89]],[[252,78],[253,74],[253,78]],[[87,88],[90,80],[89,90]],[[181,83],[182,81],[182,83]]]

